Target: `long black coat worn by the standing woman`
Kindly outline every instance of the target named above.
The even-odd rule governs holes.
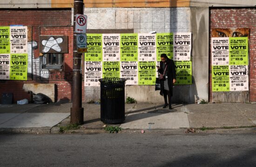
[[[175,64],[172,59],[168,58],[166,59],[166,65],[167,65],[166,71],[167,71],[167,77],[168,77],[166,79],[168,80],[168,87],[169,87],[170,94],[172,96],[173,95],[173,79],[176,79]],[[163,74],[164,72],[164,69],[162,68],[162,66],[163,66],[163,62],[161,61],[160,68],[158,70],[160,74]],[[163,81],[161,81],[160,83],[161,83],[160,95],[162,95],[162,92],[164,90]]]

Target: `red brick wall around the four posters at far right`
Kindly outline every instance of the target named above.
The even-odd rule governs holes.
[[[249,39],[249,92],[250,101],[256,102],[256,8],[210,9],[210,28],[250,28]],[[211,63],[209,53],[209,63]],[[211,70],[211,69],[209,69]],[[210,76],[210,101],[212,101]]]

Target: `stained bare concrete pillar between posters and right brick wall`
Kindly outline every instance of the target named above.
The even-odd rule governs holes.
[[[192,77],[190,103],[208,100],[209,88],[209,8],[190,7],[191,32],[193,34]]]

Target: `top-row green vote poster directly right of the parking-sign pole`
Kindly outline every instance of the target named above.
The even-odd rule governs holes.
[[[102,61],[102,34],[87,34],[85,61]]]

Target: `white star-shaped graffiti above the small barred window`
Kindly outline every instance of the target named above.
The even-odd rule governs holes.
[[[61,52],[61,47],[59,46],[59,44],[61,44],[62,42],[62,38],[54,39],[54,37],[51,37],[48,40],[42,40],[42,45],[45,46],[43,52],[47,53],[50,49]]]

